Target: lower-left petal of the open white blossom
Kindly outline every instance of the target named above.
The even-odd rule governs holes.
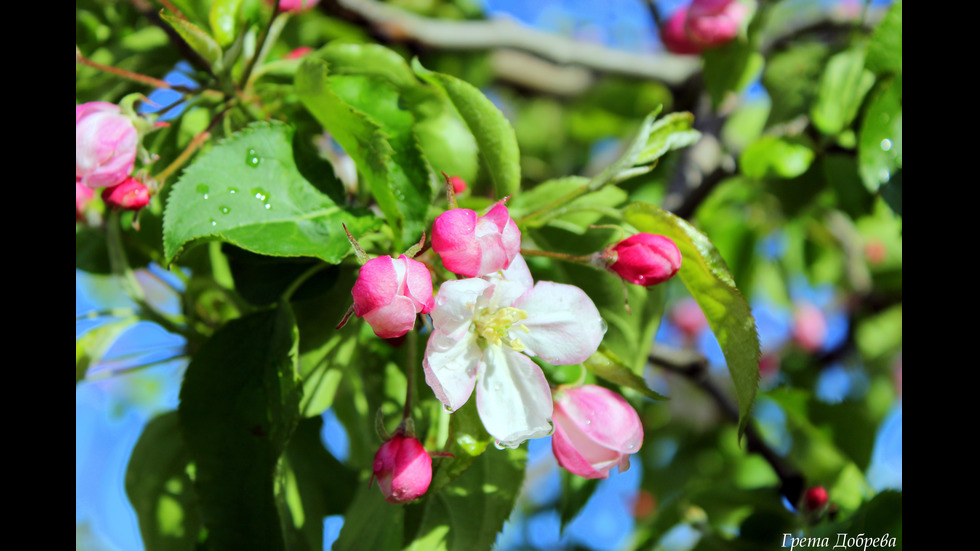
[[[422,361],[425,382],[436,398],[452,411],[465,404],[473,393],[482,354],[470,331],[454,337],[435,330],[429,337]]]

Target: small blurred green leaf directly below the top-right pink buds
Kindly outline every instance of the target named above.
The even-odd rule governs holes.
[[[704,57],[704,87],[715,107],[730,93],[741,92],[758,78],[765,66],[765,58],[744,39],[707,50]]]

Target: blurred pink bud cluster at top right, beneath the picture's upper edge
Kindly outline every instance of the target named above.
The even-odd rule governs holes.
[[[670,52],[698,54],[731,42],[746,15],[745,6],[737,0],[694,0],[674,12],[660,37]]]

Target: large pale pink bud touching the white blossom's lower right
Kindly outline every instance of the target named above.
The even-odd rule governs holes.
[[[606,478],[643,444],[640,416],[622,396],[596,385],[555,393],[551,450],[558,464],[585,478]]]

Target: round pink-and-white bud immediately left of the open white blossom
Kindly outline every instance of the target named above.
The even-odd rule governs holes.
[[[416,314],[432,309],[432,275],[425,264],[405,255],[379,256],[361,266],[351,295],[354,313],[376,335],[400,337],[415,327]]]

